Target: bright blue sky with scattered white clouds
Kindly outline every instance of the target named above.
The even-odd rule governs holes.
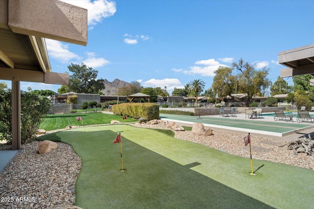
[[[280,76],[278,53],[314,44],[314,0],[62,0],[88,10],[88,43],[46,39],[52,72],[84,63],[98,79],[146,87],[212,85],[219,66],[243,59]],[[292,78],[285,78],[293,85]],[[10,88],[11,82],[6,81]],[[21,90],[61,85],[21,82]]]

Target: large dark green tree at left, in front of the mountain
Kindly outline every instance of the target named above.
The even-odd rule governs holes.
[[[98,70],[87,67],[84,63],[81,65],[71,63],[68,66],[69,90],[76,93],[99,93],[99,90],[105,89],[104,79],[97,79]]]

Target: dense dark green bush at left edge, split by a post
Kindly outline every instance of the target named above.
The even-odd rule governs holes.
[[[35,139],[40,123],[50,109],[44,96],[21,91],[21,143]],[[0,140],[12,142],[11,90],[0,90]]]

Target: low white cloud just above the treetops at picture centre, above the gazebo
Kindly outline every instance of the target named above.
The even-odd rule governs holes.
[[[166,87],[167,92],[171,95],[171,93],[173,92],[174,88],[177,89],[184,89],[184,85],[181,83],[181,81],[178,78],[164,78],[164,79],[155,79],[152,78],[148,81],[144,81],[141,80],[141,85],[143,87],[152,87],[152,88],[156,88],[156,87],[160,87],[161,89],[163,89],[164,87]]]

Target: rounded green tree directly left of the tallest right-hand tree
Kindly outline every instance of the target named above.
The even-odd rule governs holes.
[[[229,67],[218,67],[214,71],[214,78],[212,83],[213,93],[218,97],[231,96],[237,89],[236,76],[232,74],[233,69]]]

